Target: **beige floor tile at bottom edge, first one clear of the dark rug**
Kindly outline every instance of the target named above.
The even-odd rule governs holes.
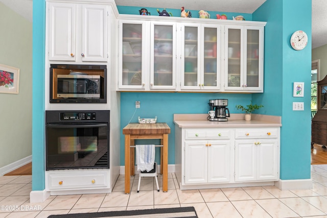
[[[237,211],[237,209],[229,202],[209,202],[206,203],[211,214],[215,218],[242,218],[241,214]],[[253,217],[254,218],[254,217]]]

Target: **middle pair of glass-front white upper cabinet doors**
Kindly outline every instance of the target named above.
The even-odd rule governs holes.
[[[180,89],[220,89],[220,26],[182,23],[180,50]]]

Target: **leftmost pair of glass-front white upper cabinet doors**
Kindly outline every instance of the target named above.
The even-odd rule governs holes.
[[[176,90],[176,23],[119,23],[119,89]]]

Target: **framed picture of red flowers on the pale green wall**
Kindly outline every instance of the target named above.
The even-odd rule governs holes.
[[[18,94],[19,69],[0,64],[0,93]]]

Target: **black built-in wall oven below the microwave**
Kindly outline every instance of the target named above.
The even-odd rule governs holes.
[[[109,168],[110,111],[45,111],[45,167]]]

